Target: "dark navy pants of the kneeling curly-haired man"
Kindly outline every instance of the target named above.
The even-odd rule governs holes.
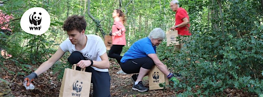
[[[70,64],[77,64],[80,60],[87,60],[83,55],[74,51],[68,58]],[[76,70],[80,71],[80,67]],[[91,83],[93,83],[93,96],[94,97],[110,97],[110,75],[109,72],[96,71],[92,67],[86,67],[86,72],[91,72]]]

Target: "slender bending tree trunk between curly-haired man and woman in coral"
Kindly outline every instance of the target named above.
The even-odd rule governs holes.
[[[100,30],[100,33],[103,37],[103,39],[105,38],[105,33],[104,33],[104,30],[102,29],[102,26],[100,24],[100,21],[99,20],[96,20],[90,13],[90,0],[88,0],[88,15],[89,17],[95,22],[96,24],[96,27]]]

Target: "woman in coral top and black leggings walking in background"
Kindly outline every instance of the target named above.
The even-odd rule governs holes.
[[[126,45],[125,27],[126,16],[120,9],[115,9],[112,13],[114,23],[112,25],[112,47],[109,51],[108,57],[116,59],[120,64],[122,47]]]

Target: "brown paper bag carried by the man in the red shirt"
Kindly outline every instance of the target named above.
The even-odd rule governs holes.
[[[179,45],[179,41],[177,41],[176,37],[178,37],[178,31],[167,31],[166,32],[166,39],[167,39],[167,46],[177,46]]]

